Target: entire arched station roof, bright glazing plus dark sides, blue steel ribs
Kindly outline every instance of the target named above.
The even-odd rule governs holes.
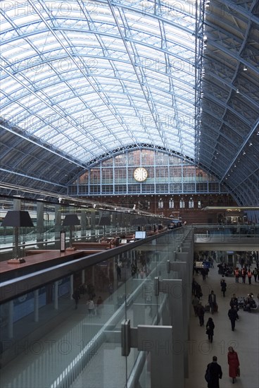
[[[87,166],[146,147],[255,205],[258,11],[255,0],[1,1],[1,180],[65,190]]]

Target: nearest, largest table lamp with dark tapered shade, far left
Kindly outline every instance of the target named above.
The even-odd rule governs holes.
[[[9,210],[1,226],[13,226],[15,235],[14,259],[8,260],[9,264],[21,264],[24,258],[18,258],[19,228],[32,228],[34,225],[29,212],[22,210]]]

